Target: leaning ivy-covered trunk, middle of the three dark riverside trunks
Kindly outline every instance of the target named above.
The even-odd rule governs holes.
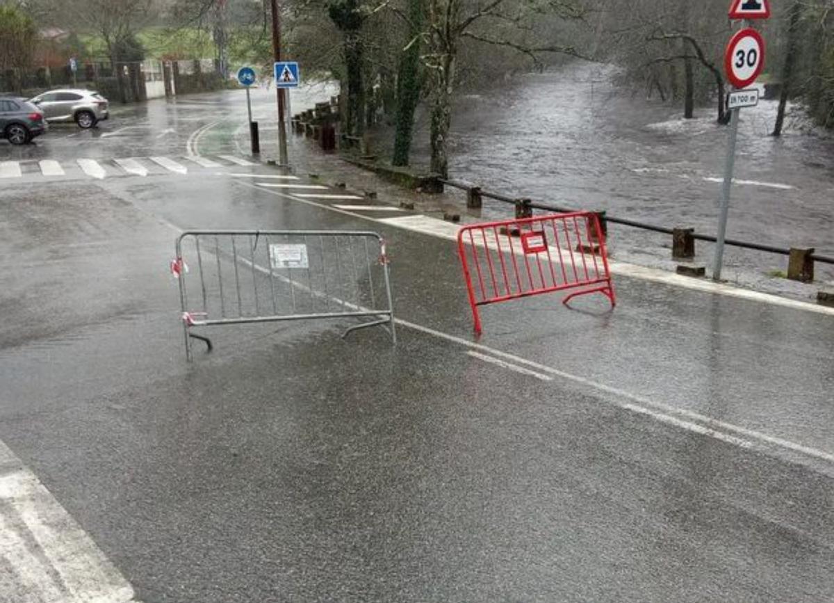
[[[397,66],[397,116],[393,165],[409,165],[414,134],[414,111],[420,102],[420,33],[425,18],[424,0],[409,0],[409,42]]]

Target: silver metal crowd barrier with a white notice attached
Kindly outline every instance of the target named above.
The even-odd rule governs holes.
[[[193,327],[318,318],[374,318],[349,327],[386,328],[394,306],[385,242],[363,231],[188,231],[171,271],[179,281],[185,353]]]

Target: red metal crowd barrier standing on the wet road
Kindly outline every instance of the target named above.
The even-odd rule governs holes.
[[[599,216],[591,212],[464,226],[458,253],[476,333],[481,332],[478,307],[499,301],[578,289],[563,303],[599,292],[616,305],[605,236]]]

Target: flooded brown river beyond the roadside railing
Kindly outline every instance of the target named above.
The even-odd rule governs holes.
[[[712,107],[682,108],[615,86],[612,68],[577,64],[530,74],[455,108],[450,176],[514,197],[530,197],[664,226],[716,233],[727,129]],[[798,112],[797,112],[798,113]],[[727,236],[773,246],[816,247],[834,256],[834,139],[794,127],[769,134],[776,101],[742,109]],[[427,138],[420,117],[418,139]],[[417,149],[427,162],[427,149]],[[508,208],[489,205],[488,215]],[[671,263],[671,237],[612,226],[620,259]],[[711,266],[711,246],[698,261]],[[730,249],[725,276],[758,281],[787,259]],[[817,276],[834,278],[817,264]]]

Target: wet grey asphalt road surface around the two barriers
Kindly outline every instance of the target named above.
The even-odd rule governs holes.
[[[176,143],[26,152],[179,158],[193,110]],[[830,315],[621,277],[615,312],[490,308],[475,350],[449,241],[240,173],[277,172],[0,185],[0,439],[138,600],[834,599]],[[188,366],[168,261],[217,227],[380,231],[425,328],[229,327]]]

